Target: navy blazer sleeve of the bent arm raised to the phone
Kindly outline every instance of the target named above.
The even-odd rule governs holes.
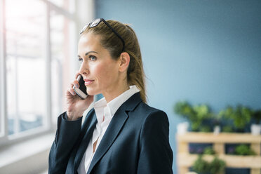
[[[81,132],[81,120],[82,117],[67,121],[66,112],[58,117],[58,128],[49,153],[48,173],[65,173],[69,154]]]

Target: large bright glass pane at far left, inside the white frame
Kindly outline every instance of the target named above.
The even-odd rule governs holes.
[[[6,1],[8,135],[44,126],[46,122],[45,5],[33,0]]]

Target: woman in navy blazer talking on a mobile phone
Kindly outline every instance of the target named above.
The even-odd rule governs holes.
[[[128,25],[95,20],[83,27],[78,45],[88,98],[67,90],[67,112],[49,155],[49,173],[173,173],[168,117],[146,104],[138,39]],[[75,78],[76,79],[76,78]],[[93,95],[95,102],[81,125]]]

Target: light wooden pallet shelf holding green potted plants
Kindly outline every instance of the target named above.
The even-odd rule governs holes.
[[[251,174],[260,174],[261,156],[260,144],[261,135],[251,135],[250,133],[186,133],[185,135],[176,135],[178,142],[178,170],[180,174],[189,171],[197,154],[189,154],[189,143],[213,143],[213,149],[217,156],[226,162],[229,168],[250,168]],[[256,156],[238,156],[225,154],[225,144],[227,143],[248,143],[257,154]],[[212,155],[204,155],[206,161],[213,160]]]

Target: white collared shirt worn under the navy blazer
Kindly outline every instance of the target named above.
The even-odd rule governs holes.
[[[81,159],[81,163],[77,170],[79,174],[87,173],[96,149],[99,147],[100,141],[102,140],[103,135],[105,135],[105,132],[109,126],[109,123],[112,121],[112,117],[114,116],[115,112],[119,109],[123,102],[126,102],[128,98],[131,98],[133,94],[138,93],[139,91],[140,90],[137,88],[137,86],[130,86],[130,89],[108,103],[106,102],[105,98],[102,98],[98,100],[98,102],[95,102],[94,110],[98,122],[96,123],[96,128],[93,131],[93,138],[90,140],[86,152],[83,154],[83,158]],[[103,116],[105,116],[104,121]],[[98,141],[96,144],[95,152],[93,153],[93,144],[96,140]]]

